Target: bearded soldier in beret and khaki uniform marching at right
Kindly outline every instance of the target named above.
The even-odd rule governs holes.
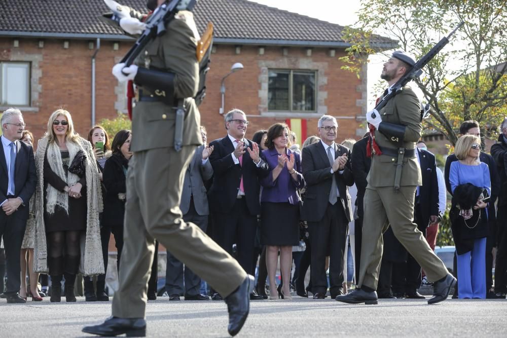
[[[395,51],[384,64],[381,78],[389,88],[414,66],[415,60]],[[434,281],[433,297],[428,304],[444,301],[456,279],[447,272],[414,223],[416,188],[421,185],[421,169],[415,144],[421,137],[420,101],[410,86],[405,86],[377,111],[367,113],[375,127],[370,149],[372,163],[364,199],[363,244],[358,289],[336,297],[348,304],[377,304],[377,283],[382,258],[382,233],[389,225],[396,238]]]

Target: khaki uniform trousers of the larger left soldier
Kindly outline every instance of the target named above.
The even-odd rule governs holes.
[[[155,239],[224,297],[246,278],[238,262],[199,227],[183,221],[179,202],[196,146],[135,152],[127,172],[127,201],[119,288],[113,316],[144,318]]]

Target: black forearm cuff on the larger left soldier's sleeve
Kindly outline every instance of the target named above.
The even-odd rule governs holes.
[[[139,67],[134,82],[165,104],[174,104],[174,73]]]

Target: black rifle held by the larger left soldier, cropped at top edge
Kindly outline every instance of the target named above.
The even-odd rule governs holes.
[[[177,8],[180,3],[188,3],[186,9],[192,11],[197,0],[167,0],[164,4],[160,5],[146,21],[146,29],[144,29],[142,34],[138,37],[134,46],[130,48],[120,61],[121,63],[125,63],[125,67],[130,66],[135,58],[153,39],[155,39],[155,37],[165,33],[167,23],[174,18],[174,14],[180,11],[180,9]]]

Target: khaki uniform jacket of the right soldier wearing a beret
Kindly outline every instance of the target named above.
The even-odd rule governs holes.
[[[414,149],[416,142],[421,137],[421,103],[410,86],[405,86],[400,93],[397,93],[386,106],[380,110],[382,122],[388,122],[406,126],[403,147]],[[387,148],[397,148],[397,145],[390,139],[375,130],[375,139],[378,145]],[[373,155],[370,173],[368,174],[368,185],[372,187],[394,186],[394,175],[396,172],[396,157],[387,155]],[[421,185],[421,169],[414,154],[411,158],[403,160],[401,186]]]

